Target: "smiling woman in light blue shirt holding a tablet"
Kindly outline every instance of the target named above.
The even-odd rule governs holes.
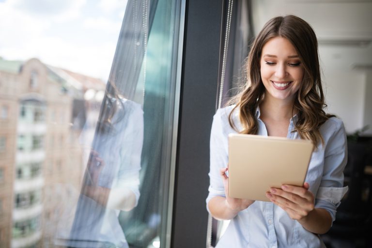
[[[217,111],[211,131],[207,208],[217,219],[231,219],[217,247],[325,247],[317,234],[330,228],[347,190],[346,137],[342,122],[323,110],[314,31],[296,16],[271,19],[246,69],[249,83],[235,105]],[[311,140],[316,149],[306,183],[268,189],[271,202],[230,198],[227,137],[236,132]]]

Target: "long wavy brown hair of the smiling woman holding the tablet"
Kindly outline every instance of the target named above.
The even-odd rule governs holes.
[[[326,104],[320,74],[318,41],[310,25],[293,15],[270,19],[255,38],[245,63],[245,86],[230,101],[230,104],[236,104],[229,115],[230,125],[236,130],[233,112],[239,109],[243,127],[240,133],[258,133],[256,109],[262,102],[265,92],[260,73],[261,52],[266,42],[274,37],[288,39],[304,67],[304,77],[294,100],[293,112],[297,112],[297,122],[293,132],[296,131],[301,139],[311,140],[315,146],[320,141],[323,144],[319,127],[333,115],[324,111]]]

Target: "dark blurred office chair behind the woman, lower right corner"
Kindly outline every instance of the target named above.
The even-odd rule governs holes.
[[[372,247],[372,176],[364,174],[367,155],[366,145],[348,143],[344,185],[349,190],[337,209],[336,220],[324,235],[327,247],[339,247],[334,244],[340,240],[353,244],[348,247]]]

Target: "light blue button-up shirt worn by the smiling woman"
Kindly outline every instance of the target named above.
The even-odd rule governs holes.
[[[219,169],[228,164],[228,135],[236,133],[229,124],[233,106],[218,109],[214,116],[210,141],[210,186],[206,199],[225,197]],[[267,136],[265,124],[257,109],[258,135]],[[294,116],[288,127],[288,139],[301,139],[294,130]],[[241,130],[238,111],[233,113],[233,122]],[[324,146],[319,144],[312,153],[305,182],[315,195],[315,208],[323,208],[335,220],[336,208],[347,191],[343,187],[343,169],[347,161],[346,133],[342,121],[335,117],[328,119],[321,127]],[[209,211],[209,209],[208,209]],[[319,248],[325,247],[319,235],[305,230],[301,224],[272,202],[256,201],[231,219],[226,232],[217,244],[218,248]]]

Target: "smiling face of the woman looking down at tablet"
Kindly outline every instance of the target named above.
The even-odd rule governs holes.
[[[275,37],[266,42],[261,54],[265,98],[294,101],[304,76],[304,67],[294,46],[286,38]]]

